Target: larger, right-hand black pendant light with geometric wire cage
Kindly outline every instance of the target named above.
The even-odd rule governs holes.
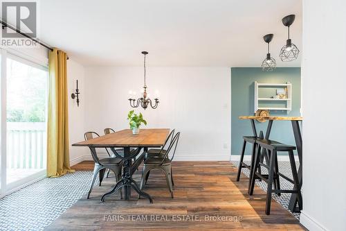
[[[289,30],[289,26],[293,24],[294,19],[295,15],[288,15],[282,19],[282,24],[284,24],[284,26],[287,26]],[[288,40],[286,40],[286,45],[282,46],[279,57],[282,62],[291,62],[298,58],[298,54],[299,49],[297,48],[297,46],[295,46],[295,44],[292,43],[292,40],[289,38]]]

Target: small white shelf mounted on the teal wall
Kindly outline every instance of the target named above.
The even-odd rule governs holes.
[[[263,88],[275,88],[277,89],[286,89],[286,99],[275,99],[275,98],[268,98],[268,97],[260,97],[259,96],[259,89]],[[275,92],[276,94],[276,92]],[[270,104],[268,107],[264,106],[265,102],[267,101],[267,104],[269,102],[285,102],[283,107],[277,107],[275,105],[274,107],[270,107]],[[292,110],[292,84],[291,83],[257,83],[255,81],[255,110],[254,112],[257,112],[257,110],[284,110],[288,114]],[[261,106],[259,106],[261,105]]]

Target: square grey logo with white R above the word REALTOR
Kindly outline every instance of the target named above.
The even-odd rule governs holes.
[[[37,35],[37,3],[4,1],[2,6],[2,21],[14,26],[19,31],[36,37]],[[23,37],[8,27],[3,28],[2,37]]]

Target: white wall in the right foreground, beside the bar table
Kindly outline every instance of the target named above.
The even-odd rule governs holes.
[[[309,230],[346,230],[346,1],[304,0],[303,210]]]

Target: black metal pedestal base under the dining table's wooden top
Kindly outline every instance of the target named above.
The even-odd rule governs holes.
[[[111,149],[113,151],[113,148]],[[124,171],[122,173],[122,179],[116,183],[116,185],[113,187],[113,189],[111,189],[111,191],[107,192],[107,194],[104,194],[101,197],[101,202],[104,202],[104,198],[106,198],[107,196],[115,194],[116,191],[118,191],[119,189],[121,190],[121,188],[124,187],[125,200],[129,200],[131,198],[131,188],[133,188],[137,192],[137,194],[143,196],[144,198],[147,198],[150,201],[150,203],[153,203],[152,197],[144,191],[140,190],[140,187],[138,187],[137,182],[134,179],[132,179],[132,174],[134,173],[133,169],[140,164],[141,160],[143,160],[143,156],[140,156],[138,160],[136,160],[134,165],[131,166],[131,159],[132,157],[134,157],[134,155],[130,154],[129,147],[125,147],[124,156],[122,157],[119,155],[118,157],[124,160]]]

